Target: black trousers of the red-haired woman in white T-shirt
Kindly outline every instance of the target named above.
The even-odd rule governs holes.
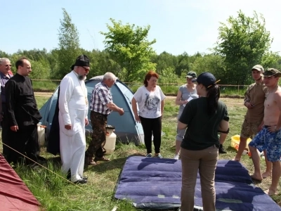
[[[141,125],[143,125],[143,133],[145,135],[145,147],[147,153],[152,153],[152,134],[155,153],[160,153],[162,119],[157,117],[154,119],[141,117]]]

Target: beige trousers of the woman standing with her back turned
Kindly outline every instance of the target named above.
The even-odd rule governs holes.
[[[199,170],[203,210],[215,211],[216,191],[214,187],[218,148],[212,146],[202,151],[188,151],[181,148],[182,187],[181,211],[192,211],[195,185]]]

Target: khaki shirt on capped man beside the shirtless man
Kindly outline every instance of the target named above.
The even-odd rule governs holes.
[[[245,115],[247,122],[261,122],[263,120],[264,101],[266,99],[267,87],[263,82],[249,85],[244,96],[244,104],[251,102],[254,108],[248,109]]]

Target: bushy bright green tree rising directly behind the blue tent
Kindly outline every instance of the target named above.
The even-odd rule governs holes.
[[[105,50],[110,53],[112,60],[119,65],[117,77],[125,82],[133,82],[142,79],[145,72],[155,69],[155,64],[150,62],[153,51],[151,45],[156,40],[148,41],[147,27],[135,27],[135,25],[122,25],[110,18],[113,26],[107,24],[109,32],[100,32],[105,35]]]

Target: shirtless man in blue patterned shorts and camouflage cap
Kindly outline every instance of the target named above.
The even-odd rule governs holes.
[[[269,196],[277,194],[281,174],[281,88],[278,86],[279,77],[281,77],[281,72],[273,68],[263,73],[264,84],[268,87],[264,101],[263,129],[249,143],[251,159],[254,163],[254,174],[251,175],[251,179],[258,181],[263,179],[256,148],[266,150],[268,161],[273,163],[271,185],[266,191]]]

